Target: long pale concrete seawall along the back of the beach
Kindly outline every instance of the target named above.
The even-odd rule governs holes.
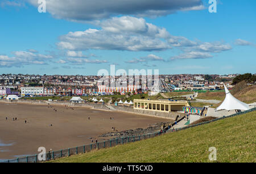
[[[141,115],[147,115],[151,117],[159,117],[159,118],[167,118],[167,119],[175,119],[177,115],[180,115],[181,117],[185,116],[184,113],[176,113],[176,112],[170,112],[170,113],[163,113],[158,111],[151,111],[151,110],[140,110],[140,109],[133,109],[133,107],[129,106],[114,106],[111,105],[111,107],[102,105],[100,103],[71,103],[68,101],[40,101],[40,100],[12,100],[12,101],[6,101],[6,100],[0,100],[1,102],[6,103],[28,103],[28,104],[40,104],[40,105],[67,105],[67,106],[82,106],[82,107],[90,107],[93,109],[103,109],[103,110],[109,110],[109,111],[123,111],[126,113],[131,114],[141,114]]]

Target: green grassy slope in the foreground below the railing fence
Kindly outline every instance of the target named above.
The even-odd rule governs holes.
[[[256,111],[108,149],[69,156],[55,162],[256,162]]]

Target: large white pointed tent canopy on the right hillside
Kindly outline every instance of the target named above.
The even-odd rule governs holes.
[[[234,110],[234,109],[248,110],[248,109],[250,109],[249,105],[234,98],[232,96],[232,94],[229,92],[228,88],[226,88],[225,84],[224,84],[224,88],[225,88],[225,93],[226,93],[225,100],[221,103],[220,106],[217,107],[216,110],[223,110],[223,109],[225,109],[225,110]]]

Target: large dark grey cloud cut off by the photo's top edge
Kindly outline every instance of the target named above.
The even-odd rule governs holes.
[[[26,0],[38,7],[38,0]],[[201,0],[47,0],[47,12],[55,18],[85,21],[117,15],[156,17],[182,10],[204,9]]]

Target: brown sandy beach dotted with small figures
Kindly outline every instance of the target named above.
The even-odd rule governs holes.
[[[104,139],[98,136],[112,132],[112,127],[122,131],[170,121],[121,111],[62,105],[0,102],[0,109],[0,159],[38,154],[38,147],[42,146],[47,151],[56,151],[88,144],[90,138],[100,142]]]

